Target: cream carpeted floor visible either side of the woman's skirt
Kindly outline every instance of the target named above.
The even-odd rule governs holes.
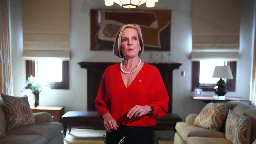
[[[105,130],[92,130],[72,128],[71,132],[66,134],[64,144],[104,144],[102,136]],[[173,144],[173,131],[155,131],[156,144]]]

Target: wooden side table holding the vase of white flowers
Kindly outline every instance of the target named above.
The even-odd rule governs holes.
[[[61,116],[64,115],[64,107],[38,106],[30,107],[33,113],[47,112],[53,116],[53,121],[61,122]]]

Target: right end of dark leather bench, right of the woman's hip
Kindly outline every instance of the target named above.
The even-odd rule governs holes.
[[[167,113],[166,115],[156,118],[157,125],[155,130],[175,130],[175,125],[177,122],[182,121],[182,118],[175,113]]]

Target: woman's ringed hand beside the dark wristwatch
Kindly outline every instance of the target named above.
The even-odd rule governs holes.
[[[151,111],[149,105],[135,105],[134,107],[132,107],[129,112],[127,113],[127,117],[128,118],[132,118],[132,117],[141,117],[143,115],[148,114]]]

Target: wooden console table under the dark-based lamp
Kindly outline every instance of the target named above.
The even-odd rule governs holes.
[[[228,101],[233,101],[233,100],[244,101],[244,102],[250,101],[249,99],[245,99],[242,97],[230,97],[230,96],[226,96],[224,100],[215,99],[213,96],[193,96],[192,98],[201,100],[201,101],[207,102],[207,103],[209,103],[209,102],[228,102]]]

